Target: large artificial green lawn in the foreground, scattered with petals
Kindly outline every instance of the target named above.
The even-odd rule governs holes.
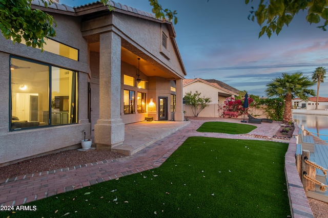
[[[287,217],[287,147],[190,137],[156,169],[31,202],[36,211],[2,217]]]

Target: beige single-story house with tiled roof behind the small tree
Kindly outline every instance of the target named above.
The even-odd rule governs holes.
[[[219,105],[223,106],[226,98],[234,98],[238,96],[239,92],[239,90],[232,86],[216,79],[183,79],[183,96],[185,96],[186,93],[195,93],[196,91],[201,93],[201,97],[209,97],[212,101],[209,106],[200,112],[198,115],[199,117],[219,117]],[[183,104],[183,108],[187,112],[186,116],[194,116],[191,111],[191,106]]]

